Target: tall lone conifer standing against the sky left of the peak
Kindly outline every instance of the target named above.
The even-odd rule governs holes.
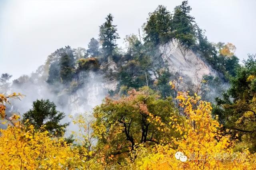
[[[100,26],[100,41],[102,41],[102,50],[106,57],[112,56],[114,48],[117,46],[116,40],[119,39],[116,25],[113,25],[113,16],[108,14],[106,22]]]

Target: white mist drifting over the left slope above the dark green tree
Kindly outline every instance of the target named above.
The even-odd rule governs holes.
[[[91,115],[93,108],[102,102],[109,90],[109,84],[104,82],[103,75],[98,72],[80,72],[77,81],[83,83],[75,92],[70,92],[65,84],[48,84],[39,75],[38,72],[33,73],[32,76],[23,75],[10,85],[6,94],[16,92],[25,96],[20,98],[21,100],[10,99],[7,113],[18,113],[22,118],[22,114],[32,108],[33,101],[49,99],[56,104],[58,111],[65,113],[66,117],[61,123],[70,122],[67,133],[78,131],[78,127],[74,126],[69,116],[84,113]],[[56,91],[60,92],[56,93]]]

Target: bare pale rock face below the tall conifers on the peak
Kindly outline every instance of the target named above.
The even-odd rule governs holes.
[[[203,75],[220,77],[220,74],[207,64],[200,55],[190,49],[182,48],[177,39],[172,39],[161,45],[159,50],[169,71],[174,75],[178,73],[186,82],[199,84]]]

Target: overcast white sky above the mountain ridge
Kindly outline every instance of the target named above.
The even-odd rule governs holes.
[[[0,74],[30,74],[56,49],[84,47],[108,13],[122,45],[138,33],[148,12],[163,4],[172,11],[182,0],[0,0]],[[240,60],[256,53],[256,0],[189,0],[192,16],[212,42],[236,45]]]

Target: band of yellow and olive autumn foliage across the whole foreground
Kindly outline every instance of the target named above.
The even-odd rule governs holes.
[[[1,95],[2,107],[7,99]],[[256,168],[255,154],[248,150],[234,151],[230,136],[220,130],[218,116],[212,117],[210,103],[187,92],[178,92],[176,100],[184,109],[183,115],[178,115],[172,104],[168,105],[172,101],[158,99],[148,88],[132,90],[129,96],[117,100],[107,98],[94,110],[95,118],[89,124],[81,116],[75,121],[80,127],[92,126],[88,136],[83,136],[84,142],[76,140],[77,144],[67,144],[64,138],[51,136],[44,127],[38,130],[26,123],[10,124],[0,130],[0,169]],[[150,127],[145,139],[144,124]],[[92,138],[98,138],[98,144],[88,147],[86,144]],[[188,158],[185,162],[174,157],[178,151]]]

